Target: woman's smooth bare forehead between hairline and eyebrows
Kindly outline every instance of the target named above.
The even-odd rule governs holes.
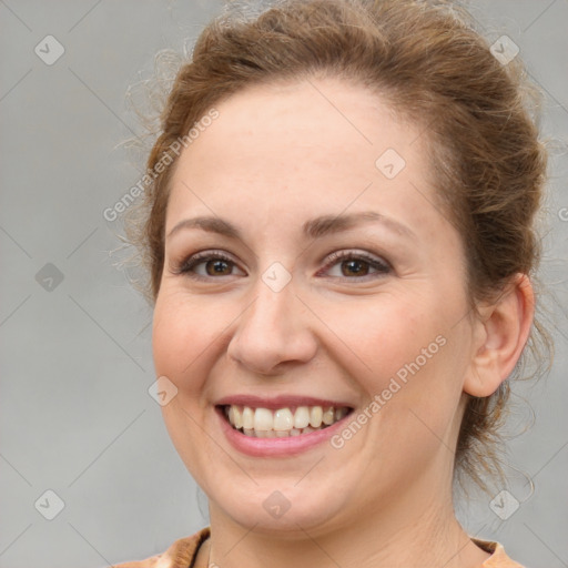
[[[338,213],[377,195],[424,207],[420,192],[432,191],[420,129],[364,87],[329,78],[254,85],[215,109],[178,161],[169,225],[190,204],[209,214],[207,204],[214,211],[221,202],[235,212],[270,202],[265,214],[318,205]]]

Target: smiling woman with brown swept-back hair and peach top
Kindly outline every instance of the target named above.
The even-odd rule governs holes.
[[[211,527],[121,568],[520,566],[452,489],[537,337],[546,153],[520,63],[437,4],[280,2],[179,71],[129,234]]]

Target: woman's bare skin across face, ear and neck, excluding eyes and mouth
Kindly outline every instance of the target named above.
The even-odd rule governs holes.
[[[324,97],[325,94],[325,97]],[[247,88],[215,105],[216,119],[181,154],[165,234],[213,215],[243,241],[178,231],[153,323],[156,376],[178,395],[163,407],[172,440],[210,498],[212,537],[200,561],[232,567],[479,566],[452,503],[454,448],[465,393],[490,395],[513,371],[532,320],[532,291],[518,275],[498,303],[468,311],[462,237],[436,206],[428,139],[376,94],[339,79]],[[392,180],[375,165],[404,158]],[[381,222],[305,239],[315,216],[376,211]],[[222,251],[222,275],[200,251]],[[366,252],[390,271],[328,262]],[[274,292],[263,273],[280,262],[292,280]],[[195,273],[194,272],[194,273]],[[405,364],[443,336],[352,439],[297,456],[255,458],[224,437],[214,404],[234,394],[301,394],[362,412]],[[291,507],[273,518],[263,501]],[[210,548],[211,547],[211,548]]]

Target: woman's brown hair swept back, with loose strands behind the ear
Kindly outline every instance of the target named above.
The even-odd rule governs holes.
[[[148,159],[152,181],[138,212],[132,209],[126,219],[128,241],[141,251],[150,275],[146,297],[155,301],[160,288],[175,142],[213,105],[245,87],[318,75],[374,90],[429,136],[437,205],[466,250],[470,315],[476,301],[495,298],[516,273],[534,280],[540,256],[534,225],[547,154],[531,116],[530,101],[537,99],[518,58],[501,64],[468,12],[449,2],[272,4],[252,17],[230,10],[213,20],[179,69]],[[156,174],[164,156],[171,163]],[[528,352],[536,363],[546,361],[542,354],[551,346],[538,321],[527,346],[509,381],[521,376]],[[470,397],[463,418],[456,471],[481,487],[485,473],[501,474],[497,430],[509,381],[487,398]]]

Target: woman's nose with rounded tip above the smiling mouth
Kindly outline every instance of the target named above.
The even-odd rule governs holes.
[[[237,320],[227,355],[248,372],[277,375],[284,367],[310,362],[317,349],[311,329],[314,316],[295,295],[290,282],[280,292],[262,280],[255,297]]]

